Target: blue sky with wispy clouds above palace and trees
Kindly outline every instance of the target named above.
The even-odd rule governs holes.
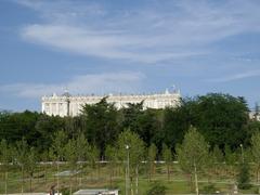
[[[259,0],[1,0],[0,108],[40,96],[222,92],[260,99]]]

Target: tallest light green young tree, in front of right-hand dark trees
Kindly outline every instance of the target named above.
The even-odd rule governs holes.
[[[208,144],[204,136],[193,127],[185,134],[182,145],[177,148],[178,161],[181,168],[193,173],[195,178],[196,194],[198,195],[198,171],[207,164]]]

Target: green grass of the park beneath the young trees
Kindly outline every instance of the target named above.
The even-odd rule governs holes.
[[[69,170],[67,165],[62,165],[60,172]],[[91,169],[86,167],[81,173],[73,177],[73,190],[79,188],[95,188],[95,187],[108,187],[119,188],[121,194],[125,194],[125,173],[120,167],[115,168],[114,176],[110,181],[110,168],[102,165],[100,169]],[[34,177],[44,173],[44,167],[39,166],[34,173]],[[47,181],[44,178],[35,178],[32,180],[32,192],[49,192],[50,186],[56,183],[56,167],[48,166]],[[235,182],[234,172],[225,171],[224,167],[221,167],[217,172],[214,170],[208,170],[207,174],[199,174],[199,190],[200,192],[206,188],[207,185],[212,184],[213,187],[220,192],[231,193],[233,183]],[[256,176],[252,171],[251,180],[255,181]],[[81,178],[81,179],[80,179]],[[135,191],[135,179],[132,179],[132,188]],[[193,180],[193,179],[192,179]],[[184,174],[178,165],[172,165],[170,179],[168,180],[167,170],[164,165],[157,165],[152,176],[151,181],[144,165],[140,168],[139,177],[139,194],[143,195],[153,185],[154,182],[160,182],[167,187],[167,194],[185,194],[194,193],[194,183],[191,182],[191,177]],[[60,177],[61,188],[69,188],[69,177]],[[81,185],[80,185],[81,183]],[[4,193],[4,173],[0,174],[0,193]],[[8,180],[8,193],[20,193],[22,188],[22,173],[18,167],[11,167],[9,171]],[[29,176],[25,174],[24,192],[30,192]],[[250,190],[243,191],[243,193],[256,193],[257,186],[252,185]]]

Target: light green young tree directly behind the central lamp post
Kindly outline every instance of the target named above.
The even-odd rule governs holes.
[[[129,159],[128,165],[130,170],[128,173],[130,178],[135,176],[135,194],[138,194],[139,167],[144,157],[144,142],[139,138],[136,133],[131,132],[129,129],[127,129],[119,134],[117,144],[120,159],[122,161]],[[131,192],[133,192],[132,187]]]

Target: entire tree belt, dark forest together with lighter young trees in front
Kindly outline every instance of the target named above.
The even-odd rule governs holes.
[[[53,161],[58,172],[61,161],[68,162],[75,171],[80,169],[80,161],[88,161],[99,171],[98,161],[107,160],[113,176],[117,162],[127,168],[126,160],[130,158],[125,170],[129,176],[126,186],[138,194],[142,162],[147,165],[152,179],[154,161],[164,160],[169,179],[176,159],[183,171],[194,174],[198,193],[197,172],[205,170],[209,159],[213,166],[223,161],[233,166],[243,146],[245,158],[259,164],[260,123],[249,119],[248,112],[243,98],[209,93],[183,99],[178,107],[165,109],[143,109],[141,102],[118,110],[102,99],[94,105],[84,105],[77,117],[28,110],[1,113],[1,167],[8,177],[12,162],[21,168],[23,178],[27,172],[31,179],[37,161]],[[258,180],[259,170],[257,166]],[[58,188],[58,177],[56,180]]]

